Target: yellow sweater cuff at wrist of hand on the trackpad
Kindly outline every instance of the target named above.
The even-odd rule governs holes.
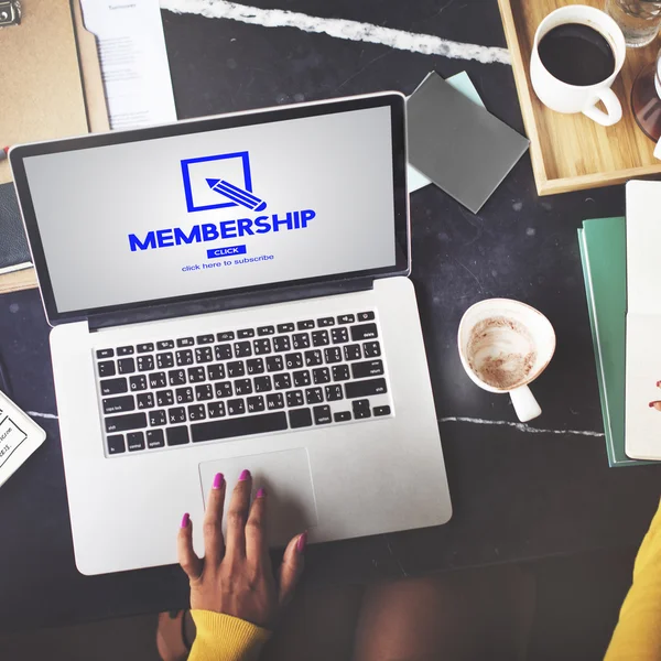
[[[192,610],[197,627],[188,661],[254,661],[270,631],[210,610]]]

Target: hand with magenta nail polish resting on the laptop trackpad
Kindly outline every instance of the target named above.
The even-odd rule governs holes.
[[[191,608],[232,615],[269,628],[292,598],[303,571],[307,533],[288,544],[278,583],[273,576],[266,535],[268,497],[259,489],[252,506],[252,476],[243,470],[227,511],[227,540],[223,535],[226,481],[214,478],[204,517],[204,560],[193,550],[193,523],[184,514],[177,538],[178,561],[191,581]]]

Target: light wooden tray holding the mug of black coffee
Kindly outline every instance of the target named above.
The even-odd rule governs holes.
[[[613,86],[622,104],[624,117],[614,127],[602,127],[581,113],[554,112],[537,98],[529,77],[534,33],[546,14],[566,4],[603,9],[604,0],[498,0],[530,138],[538,193],[553,195],[610,186],[631,177],[661,173],[661,161],[652,155],[654,143],[638,128],[630,104],[633,80],[657,57],[659,40],[644,48],[627,48],[627,61]]]

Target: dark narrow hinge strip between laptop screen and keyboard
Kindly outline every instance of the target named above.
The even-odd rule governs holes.
[[[317,299],[373,289],[373,279],[344,280],[339,282],[319,283],[314,285],[285,286],[260,292],[214,296],[195,302],[163,303],[140,307],[138,310],[96,314],[88,318],[91,332],[128,324],[142,324],[160,319],[171,319],[195,314],[207,314],[241,307],[274,305],[288,301]]]

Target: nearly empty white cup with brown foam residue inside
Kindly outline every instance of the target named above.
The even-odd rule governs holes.
[[[528,383],[551,361],[555,332],[541,312],[510,299],[480,301],[464,313],[457,344],[470,379],[489,392],[509,392],[521,422],[542,413]]]

